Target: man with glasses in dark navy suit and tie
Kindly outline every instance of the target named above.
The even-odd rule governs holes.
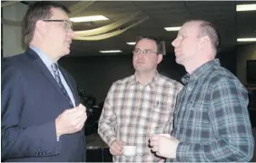
[[[2,61],[2,161],[84,161],[86,109],[74,79],[57,61],[70,53],[69,11],[54,2],[30,5],[25,53]]]

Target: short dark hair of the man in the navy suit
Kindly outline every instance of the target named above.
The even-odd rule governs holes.
[[[22,24],[23,40],[26,45],[33,39],[35,23],[38,20],[49,19],[52,16],[51,8],[59,8],[66,14],[70,13],[64,5],[51,1],[40,1],[29,5]]]

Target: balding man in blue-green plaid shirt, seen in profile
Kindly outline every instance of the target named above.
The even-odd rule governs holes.
[[[172,137],[153,136],[156,155],[174,162],[250,161],[254,139],[241,82],[215,59],[218,33],[206,21],[182,25],[172,42],[186,72],[174,112]]]

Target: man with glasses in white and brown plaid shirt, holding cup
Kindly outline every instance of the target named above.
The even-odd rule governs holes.
[[[132,76],[114,82],[107,94],[98,133],[110,146],[114,162],[156,162],[164,159],[148,147],[153,134],[170,134],[176,96],[182,84],[156,71],[163,45],[141,37],[133,49]],[[123,155],[123,145],[136,146],[135,156]]]

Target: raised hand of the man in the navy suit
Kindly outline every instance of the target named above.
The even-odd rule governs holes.
[[[86,119],[86,108],[82,104],[74,109],[64,110],[55,120],[57,138],[83,129]]]

